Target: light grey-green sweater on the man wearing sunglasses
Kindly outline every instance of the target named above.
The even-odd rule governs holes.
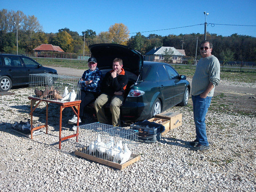
[[[215,86],[219,84],[220,64],[217,57],[211,55],[199,60],[196,65],[196,71],[192,79],[191,95],[200,95],[203,93],[210,82],[214,88],[207,95],[212,97],[214,94]]]

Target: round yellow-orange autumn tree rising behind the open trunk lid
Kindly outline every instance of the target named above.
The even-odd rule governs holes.
[[[109,27],[109,39],[115,44],[127,45],[129,33],[128,27],[123,23],[115,23]]]

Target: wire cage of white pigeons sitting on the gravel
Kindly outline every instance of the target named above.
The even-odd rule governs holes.
[[[79,126],[79,151],[123,164],[138,157],[138,131],[103,123]]]

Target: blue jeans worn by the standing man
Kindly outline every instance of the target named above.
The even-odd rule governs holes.
[[[199,144],[209,146],[206,136],[205,116],[212,97],[201,98],[200,95],[192,95],[193,114],[196,125],[196,140]]]

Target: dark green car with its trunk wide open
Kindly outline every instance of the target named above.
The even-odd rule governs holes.
[[[95,44],[89,48],[103,75],[112,69],[114,58],[123,60],[129,82],[120,106],[121,120],[149,119],[175,105],[187,105],[190,84],[171,65],[143,61],[142,54],[124,45]]]

